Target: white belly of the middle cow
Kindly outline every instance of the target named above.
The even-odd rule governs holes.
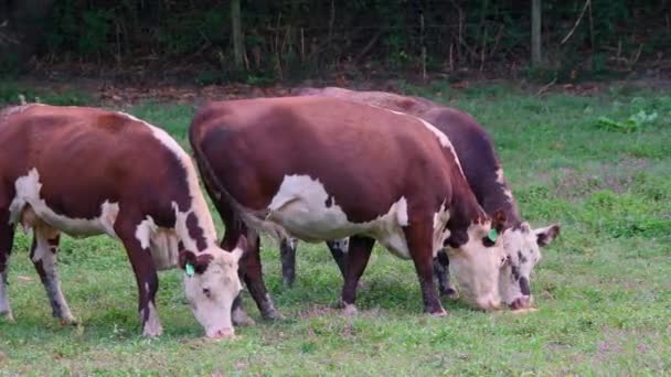
[[[318,180],[307,175],[288,175],[285,176],[268,209],[268,220],[302,240],[317,243],[366,235],[375,238],[397,257],[409,258],[403,231],[403,227],[407,225],[405,197],[401,197],[371,222],[352,223]]]

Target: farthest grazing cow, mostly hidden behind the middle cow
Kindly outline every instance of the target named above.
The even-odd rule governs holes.
[[[455,148],[461,168],[475,193],[478,203],[488,214],[502,208],[508,218],[503,231],[503,246],[510,263],[501,272],[501,295],[511,309],[525,309],[532,303],[530,274],[541,259],[540,247],[547,246],[560,233],[557,224],[532,229],[523,222],[508,183],[503,176],[501,162],[496,153],[488,132],[466,112],[441,106],[419,97],[405,97],[384,91],[356,91],[338,87],[301,88],[301,96],[329,96],[360,104],[382,107],[393,111],[405,112],[422,118],[445,133]],[[343,240],[327,243],[338,266],[343,268],[343,256],[347,243]],[[295,279],[296,241],[281,240],[280,245],[283,279],[290,284]],[[434,269],[440,286],[440,292],[452,295],[455,290],[449,286],[445,254],[438,255]],[[344,273],[343,273],[344,274]]]

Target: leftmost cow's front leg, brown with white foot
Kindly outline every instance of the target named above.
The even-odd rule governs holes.
[[[115,231],[126,248],[138,284],[138,311],[142,321],[142,335],[158,336],[163,332],[155,301],[159,289],[159,277],[149,252],[149,243],[142,245],[135,236],[140,222],[139,216],[119,215]]]

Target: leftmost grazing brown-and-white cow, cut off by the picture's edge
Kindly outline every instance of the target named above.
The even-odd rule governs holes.
[[[0,314],[15,225],[32,228],[30,258],[53,315],[75,323],[56,270],[60,233],[120,240],[135,272],[142,334],[160,335],[157,269],[179,265],[196,320],[209,337],[233,335],[242,290],[238,259],[216,233],[195,168],[163,130],[121,112],[25,105],[0,114]]]

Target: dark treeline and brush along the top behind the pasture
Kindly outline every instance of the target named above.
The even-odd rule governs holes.
[[[0,0],[0,52],[3,72],[191,65],[211,79],[668,72],[671,1]]]

